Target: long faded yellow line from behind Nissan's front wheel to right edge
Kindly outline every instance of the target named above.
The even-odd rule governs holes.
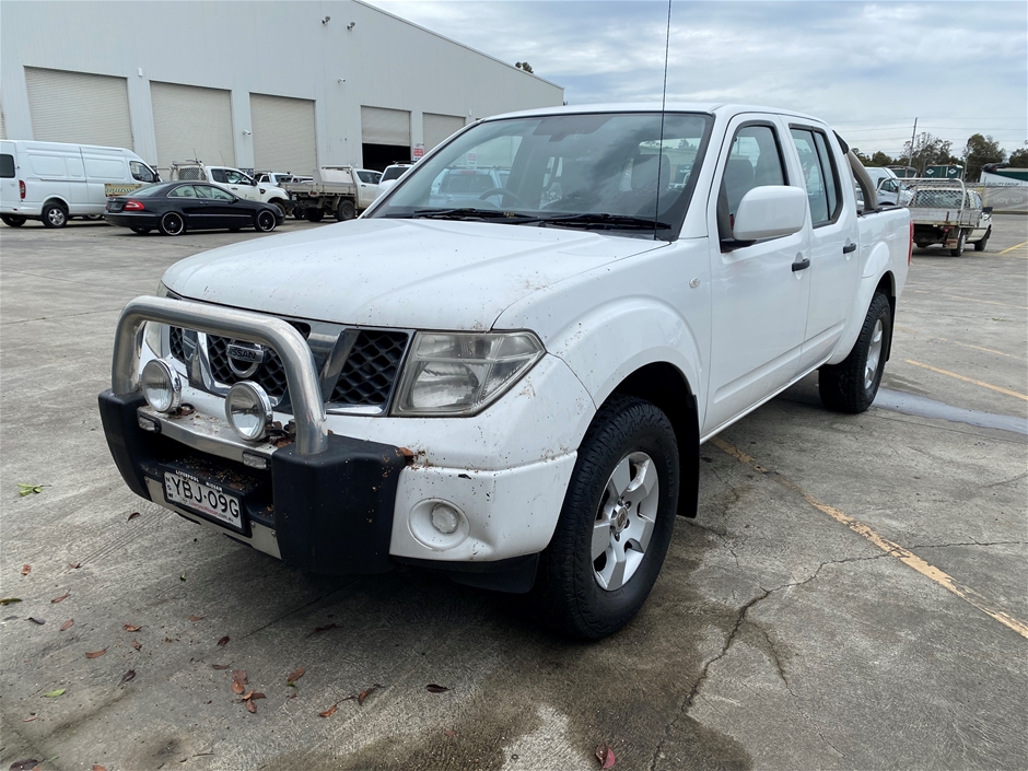
[[[872,529],[868,525],[861,522],[860,519],[854,519],[852,516],[844,514],[843,512],[839,511],[834,506],[829,506],[827,503],[821,503],[814,495],[808,493],[806,490],[801,488],[795,482],[790,481],[788,479],[786,479],[785,477],[779,474],[771,474],[770,469],[763,468],[762,466],[758,465],[757,462],[754,460],[754,458],[751,458],[749,455],[747,455],[743,451],[737,449],[736,447],[733,447],[723,439],[715,436],[714,439],[711,440],[711,444],[713,444],[716,447],[720,447],[725,453],[734,457],[736,460],[744,463],[747,466],[750,466],[751,468],[759,471],[760,474],[769,475],[768,479],[772,479],[779,484],[781,484],[782,487],[788,490],[792,490],[793,492],[799,493],[803,497],[804,501],[809,503],[819,512],[821,512],[822,514],[827,514],[832,519],[838,522],[840,525],[845,525],[851,530],[853,530],[853,533],[856,533],[857,535],[863,536],[871,544],[881,549],[881,551],[887,553],[889,557],[895,557],[900,562],[906,564],[908,568],[912,568],[924,577],[938,584],[947,592],[950,592],[957,595],[960,599],[978,608],[986,616],[1002,623],[1004,627],[1008,627],[1009,629],[1013,629],[1015,632],[1020,634],[1023,638],[1028,639],[1028,623],[1025,623],[1024,621],[1020,621],[1014,618],[1008,612],[1006,612],[1005,610],[1003,610],[1002,608],[997,607],[992,601],[990,601],[989,598],[982,596],[981,594],[972,589],[970,586],[965,586],[963,584],[958,583],[948,573],[943,572],[935,565],[928,564],[927,562],[925,562],[923,559],[918,557],[912,551],[901,547],[899,544],[893,544],[888,538],[885,538],[884,536],[879,535],[878,533],[876,533],[874,529]]]

